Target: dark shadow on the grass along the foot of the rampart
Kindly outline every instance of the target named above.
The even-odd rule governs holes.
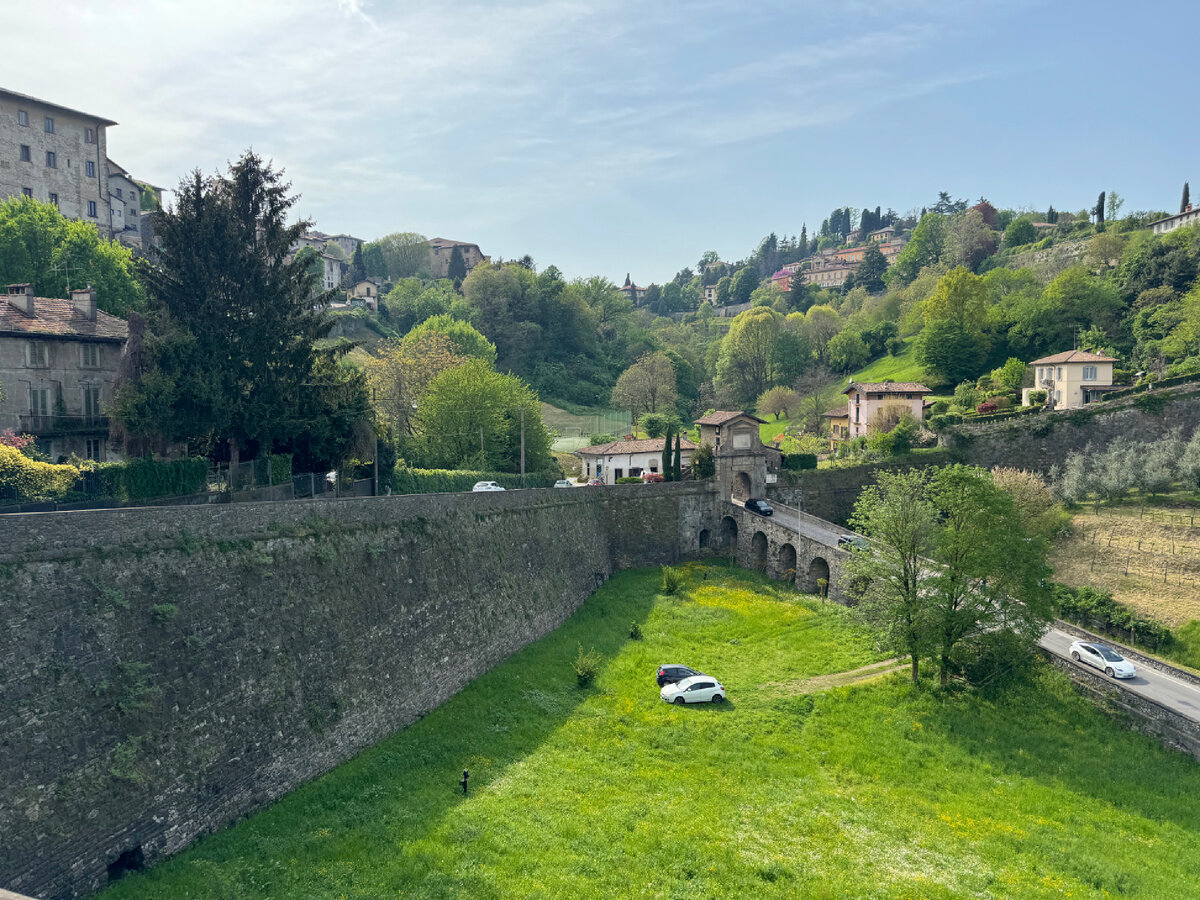
[[[347,859],[395,857],[398,848],[425,838],[452,809],[470,802],[460,786],[464,769],[470,773],[470,794],[486,791],[596,692],[596,688],[576,684],[571,664],[580,646],[604,656],[598,676],[602,686],[608,664],[631,640],[631,623],[644,624],[654,606],[656,572],[614,575],[560,628],[480,676],[421,720],[245,822],[146,872],[122,878],[104,896],[157,898],[185,890],[197,892],[188,894],[193,896],[341,893],[347,884],[330,881],[334,876],[324,872],[348,866]],[[684,589],[690,587],[689,578]],[[280,859],[292,860],[286,875],[272,870],[272,877],[284,883],[272,881],[264,887],[262,872]],[[494,887],[478,876],[439,872],[436,860],[413,863],[413,878],[432,872],[452,882],[451,893],[494,894]]]

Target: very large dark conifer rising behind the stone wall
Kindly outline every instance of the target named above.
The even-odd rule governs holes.
[[[365,391],[360,377],[328,359],[318,372],[313,346],[330,322],[312,308],[312,270],[288,258],[308,226],[287,224],[289,190],[247,151],[228,175],[194,172],[158,216],[161,247],[146,272],[151,328],[114,398],[127,436],[226,446],[236,462],[251,445],[272,452],[302,442],[313,415],[365,406],[365,396],[354,400],[355,385]],[[354,440],[347,431],[341,449]],[[341,450],[325,452],[336,462]]]

